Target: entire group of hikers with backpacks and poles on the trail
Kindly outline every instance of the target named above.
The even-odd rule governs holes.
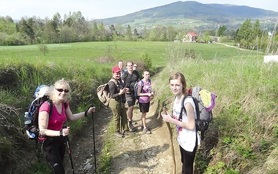
[[[140,79],[136,68],[136,64],[128,61],[124,70],[123,62],[119,61],[118,65],[112,68],[112,77],[108,83],[97,88],[99,100],[109,106],[113,113],[114,135],[119,138],[136,132],[132,120],[136,100],[141,113],[140,129],[145,134],[152,134],[146,125],[146,115],[154,96],[152,82],[149,79],[150,73],[149,70],[143,70]],[[170,77],[169,84],[175,95],[173,110],[172,113],[165,111],[161,116],[165,122],[176,125],[182,173],[193,173],[197,146],[200,144],[200,139],[204,138],[208,122],[212,120],[211,109],[215,106],[216,96],[199,87],[187,90],[186,79],[180,72]],[[30,139],[40,142],[42,155],[53,173],[65,173],[63,159],[66,148],[70,154],[68,139],[70,127],[67,127],[65,121],[78,120],[95,112],[95,106],[90,106],[86,111],[73,114],[67,102],[70,92],[70,84],[64,79],[56,81],[53,86],[39,86],[35,91],[35,100],[28,107],[27,116],[31,116],[32,122],[28,123],[26,133]],[[198,131],[201,132],[201,137]],[[72,163],[71,154],[70,159]],[[72,173],[74,173],[73,164]]]

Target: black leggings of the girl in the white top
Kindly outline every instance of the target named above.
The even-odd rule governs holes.
[[[181,150],[181,163],[182,163],[181,173],[192,174],[197,145],[195,145],[193,152],[188,152],[184,150],[183,148],[181,148],[181,145],[179,145],[179,149]]]

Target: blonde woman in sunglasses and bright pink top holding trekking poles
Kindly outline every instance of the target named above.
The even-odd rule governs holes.
[[[63,158],[66,148],[66,137],[70,127],[63,127],[66,120],[78,120],[95,111],[95,106],[87,111],[73,114],[67,97],[70,97],[70,85],[64,79],[51,86],[50,100],[44,102],[39,109],[39,129],[42,155],[54,173],[65,173]],[[52,105],[52,110],[51,110]],[[51,113],[49,114],[51,110]]]

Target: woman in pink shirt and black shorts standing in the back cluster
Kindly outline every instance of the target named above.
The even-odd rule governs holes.
[[[154,96],[154,93],[152,93],[152,83],[149,79],[149,71],[144,70],[143,72],[143,79],[139,81],[138,84],[138,102],[141,112],[141,129],[145,134],[151,134],[151,130],[146,125],[146,115],[147,112],[149,112],[149,103],[151,101],[151,97]]]

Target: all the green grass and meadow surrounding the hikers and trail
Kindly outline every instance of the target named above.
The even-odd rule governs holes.
[[[174,72],[185,75],[188,87],[201,86],[218,96],[195,160],[199,173],[278,172],[278,65],[263,63],[262,52],[174,42],[80,42],[47,49],[44,56],[37,45],[0,47],[1,169],[19,163],[16,150],[29,145],[20,131],[36,86],[65,78],[73,89],[73,112],[91,103],[99,107],[97,86],[111,78],[111,68],[122,60],[151,71],[158,107],[171,109],[168,78]],[[77,131],[86,119],[70,126]]]

